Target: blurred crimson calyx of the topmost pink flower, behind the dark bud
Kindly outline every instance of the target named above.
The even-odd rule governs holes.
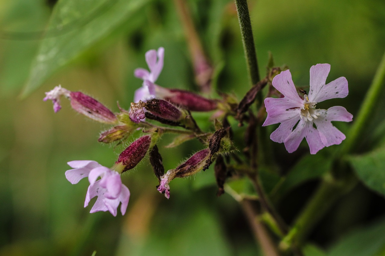
[[[169,89],[169,95],[165,95],[164,99],[191,111],[211,111],[218,106],[216,100],[179,89]]]

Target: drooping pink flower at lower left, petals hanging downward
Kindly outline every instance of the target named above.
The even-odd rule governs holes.
[[[121,176],[116,171],[100,165],[95,161],[79,160],[67,163],[74,169],[65,172],[65,177],[72,183],[78,183],[82,178],[88,177],[90,185],[85,196],[84,207],[92,198],[97,196],[90,213],[97,211],[109,211],[117,215],[117,208],[121,204],[121,213],[126,213],[130,191],[122,184]],[[97,178],[100,176],[100,180]]]

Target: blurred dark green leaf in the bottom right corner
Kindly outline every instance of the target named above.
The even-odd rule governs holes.
[[[329,256],[374,256],[385,246],[385,220],[358,228],[347,234],[330,248]]]

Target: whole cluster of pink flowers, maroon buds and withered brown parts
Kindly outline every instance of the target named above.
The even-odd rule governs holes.
[[[218,196],[223,194],[226,179],[236,172],[235,168],[228,166],[231,159],[233,158],[236,163],[241,162],[236,155],[240,151],[233,145],[233,132],[227,116],[233,116],[240,123],[243,121],[249,123],[245,133],[246,148],[243,153],[251,159],[249,151],[251,148],[254,148],[254,151],[257,148],[253,144],[256,141],[254,135],[258,121],[263,119],[264,111],[259,111],[261,116],[255,116],[248,108],[255,101],[261,88],[269,81],[283,97],[268,97],[264,100],[268,115],[263,126],[280,123],[279,127],[271,133],[270,138],[278,143],[284,143],[289,153],[297,150],[303,138],[308,142],[311,154],[317,153],[324,147],[340,144],[345,139],[345,135],[335,128],[331,121],[352,121],[352,115],[342,106],[333,106],[327,110],[316,108],[317,103],[321,101],[344,98],[348,95],[346,78],[340,77],[326,84],[326,77],[330,71],[329,64],[317,64],[311,67],[308,95],[305,93],[301,97],[297,93],[289,70],[280,72],[279,68],[275,68],[266,78],[253,86],[243,100],[238,102],[233,96],[224,93],[221,94],[221,100],[213,100],[189,91],[156,85],[155,82],[163,68],[163,60],[164,48],[162,47],[146,53],[149,70],[137,68],[134,71],[134,75],[141,78],[143,82],[142,87],[135,91],[134,102],[131,103],[129,111],[119,106],[120,112],[113,113],[94,98],[81,92],[69,91],[60,85],[46,93],[44,100],[52,100],[55,112],[60,110],[60,98],[65,96],[70,100],[75,111],[101,123],[113,125],[100,134],[98,140],[100,142],[122,143],[126,142],[127,137],[134,131],[141,130],[145,133],[121,152],[111,168],[89,160],[68,162],[68,165],[73,168],[65,172],[70,183],[76,184],[88,177],[89,187],[84,207],[88,206],[92,198],[97,197],[90,210],[91,213],[109,211],[116,216],[119,205],[121,205],[121,213],[126,213],[130,191],[122,183],[121,173],[135,168],[147,154],[159,181],[157,190],[164,193],[167,199],[170,197],[171,180],[207,170],[213,162],[215,162],[214,174],[219,189]],[[269,92],[271,91],[273,90],[270,88]],[[199,128],[190,111],[211,110],[217,110],[217,114],[214,115],[216,116],[215,131],[204,132]],[[154,121],[161,125],[152,123]],[[179,134],[168,147],[197,138],[205,148],[165,173],[157,147],[157,142],[164,133]]]

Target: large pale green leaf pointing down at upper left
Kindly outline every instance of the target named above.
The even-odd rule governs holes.
[[[37,89],[55,71],[107,37],[149,0],[60,0],[52,12],[46,38],[32,64],[22,96]]]

